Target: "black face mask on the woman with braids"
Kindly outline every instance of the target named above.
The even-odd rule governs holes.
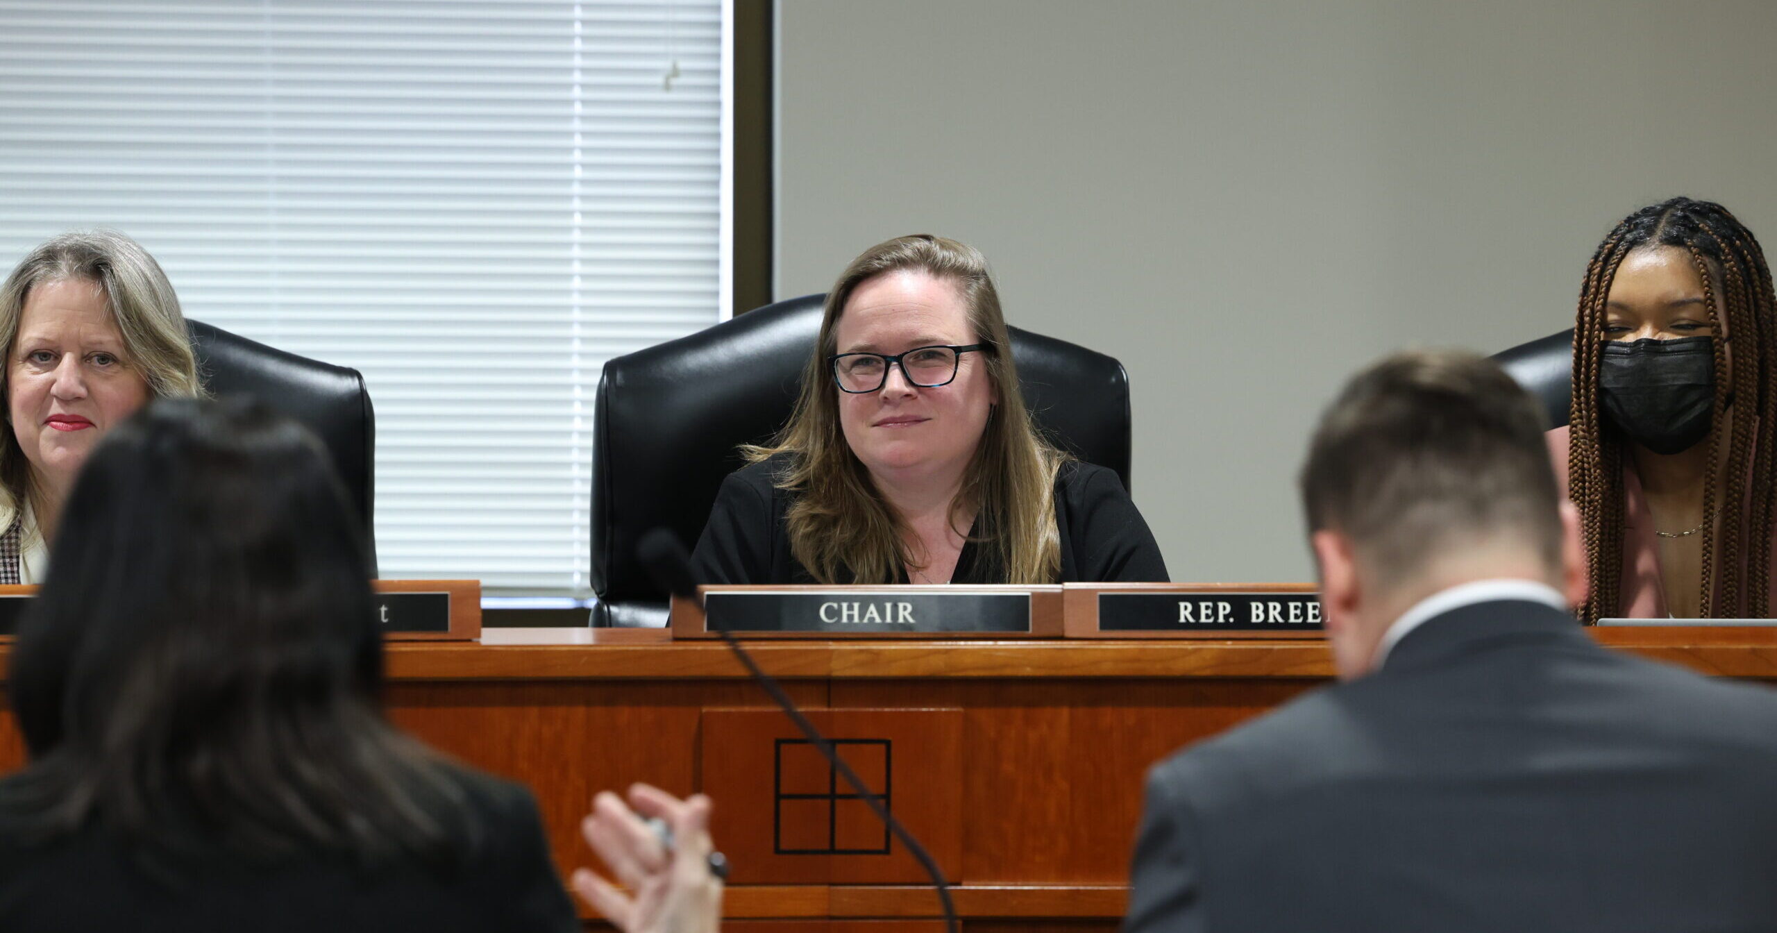
[[[1608,341],[1598,359],[1605,414],[1654,453],[1686,451],[1709,435],[1715,338]]]

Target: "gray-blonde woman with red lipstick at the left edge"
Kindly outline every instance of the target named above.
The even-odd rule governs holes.
[[[149,398],[197,396],[179,299],[116,231],[64,233],[0,286],[11,430],[0,434],[0,583],[41,583],[92,444]]]

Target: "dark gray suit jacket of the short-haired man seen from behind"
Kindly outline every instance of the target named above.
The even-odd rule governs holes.
[[[1159,764],[1125,931],[1777,929],[1777,693],[1459,608]]]

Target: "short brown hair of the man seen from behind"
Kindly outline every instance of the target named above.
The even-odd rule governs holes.
[[[1310,531],[1335,530],[1383,585],[1482,538],[1560,567],[1560,490],[1542,411],[1498,364],[1413,350],[1358,373],[1303,464]]]

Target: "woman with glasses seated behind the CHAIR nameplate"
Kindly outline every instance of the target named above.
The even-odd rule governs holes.
[[[698,583],[1167,579],[1116,474],[1036,434],[1009,347],[976,249],[919,235],[853,259],[794,414],[721,483]]]

